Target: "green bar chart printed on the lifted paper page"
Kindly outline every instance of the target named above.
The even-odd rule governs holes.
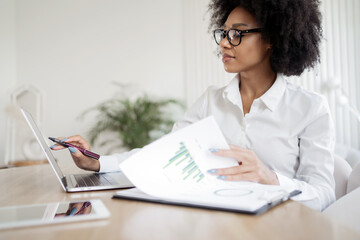
[[[181,172],[183,180],[200,182],[205,176],[196,165],[188,149],[183,142],[179,143],[179,149],[174,156],[169,159],[163,169],[176,170]]]

